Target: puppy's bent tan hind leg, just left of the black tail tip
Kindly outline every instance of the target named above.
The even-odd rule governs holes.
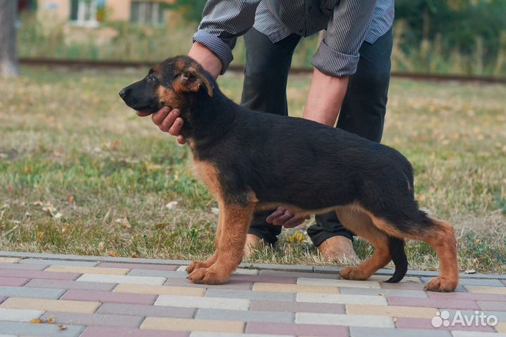
[[[337,217],[346,229],[369,241],[375,248],[372,256],[357,267],[344,267],[340,274],[343,279],[368,279],[377,269],[386,266],[390,262],[389,236],[377,229],[368,215],[359,210],[343,207],[337,209]]]

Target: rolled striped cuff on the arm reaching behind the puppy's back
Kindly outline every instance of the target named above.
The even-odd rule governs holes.
[[[323,40],[318,46],[311,64],[325,75],[343,77],[353,75],[356,72],[359,58],[358,55],[336,51],[327,46],[325,40]]]

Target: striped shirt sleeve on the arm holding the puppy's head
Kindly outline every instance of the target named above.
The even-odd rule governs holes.
[[[193,42],[207,46],[221,61],[221,74],[233,60],[235,40],[254,24],[260,0],[208,0]]]

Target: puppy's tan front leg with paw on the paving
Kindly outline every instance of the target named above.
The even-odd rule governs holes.
[[[247,229],[252,220],[255,203],[245,206],[223,205],[221,235],[217,249],[216,262],[211,267],[194,269],[188,275],[193,283],[223,284],[230,279],[234,270],[242,261],[243,248],[246,242]],[[213,256],[214,256],[213,255]]]

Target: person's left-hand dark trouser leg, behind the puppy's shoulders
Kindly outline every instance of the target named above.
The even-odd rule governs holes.
[[[292,54],[300,40],[297,34],[273,44],[258,30],[245,34],[246,65],[242,86],[241,105],[262,113],[288,115],[286,85]],[[266,243],[275,243],[282,226],[266,222],[272,211],[254,215],[248,234],[254,234]]]

